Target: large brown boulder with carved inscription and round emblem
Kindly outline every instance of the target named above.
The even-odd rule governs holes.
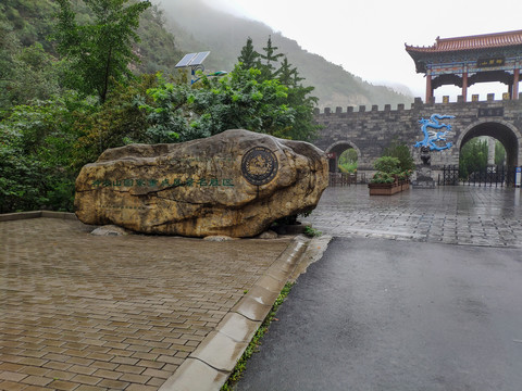
[[[252,237],[281,217],[313,209],[327,171],[314,146],[248,130],[130,144],[82,168],[76,215],[86,224],[145,234]]]

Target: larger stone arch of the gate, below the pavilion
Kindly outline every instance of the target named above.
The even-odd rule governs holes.
[[[500,141],[506,149],[506,162],[508,166],[521,165],[522,136],[519,129],[506,121],[482,119],[468,126],[459,136],[456,147],[459,151],[471,139],[480,136],[489,136]]]

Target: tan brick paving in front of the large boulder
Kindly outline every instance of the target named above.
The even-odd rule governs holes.
[[[288,243],[0,223],[0,390],[157,390]]]

